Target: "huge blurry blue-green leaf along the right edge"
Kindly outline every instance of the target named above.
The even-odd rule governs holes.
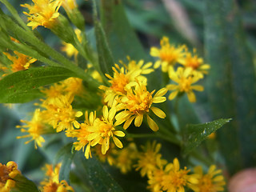
[[[234,119],[218,132],[226,166],[234,174],[256,162],[254,62],[235,1],[207,0],[204,14],[206,58],[211,65],[208,96],[213,118]]]

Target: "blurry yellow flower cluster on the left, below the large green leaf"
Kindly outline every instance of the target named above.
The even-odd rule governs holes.
[[[28,133],[18,138],[31,138],[26,143],[34,141],[35,148],[45,142],[42,134],[54,133],[54,130],[69,131],[79,127],[76,118],[81,117],[82,112],[74,110],[71,103],[74,101],[74,96],[83,95],[85,89],[82,86],[82,79],[67,78],[41,91],[46,98],[41,99],[41,103],[37,103],[40,108],[34,111],[30,121],[21,120],[26,125],[17,126],[22,128],[22,132]]]

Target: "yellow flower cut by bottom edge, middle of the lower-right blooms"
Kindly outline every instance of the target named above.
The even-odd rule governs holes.
[[[194,174],[188,174],[190,170],[187,170],[186,167],[183,170],[180,169],[177,158],[174,158],[174,162],[166,166],[165,171],[167,173],[162,176],[162,190],[185,192],[184,186],[198,183]]]

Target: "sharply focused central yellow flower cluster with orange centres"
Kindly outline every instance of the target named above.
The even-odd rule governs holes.
[[[154,94],[154,90],[149,92],[146,88],[146,78],[142,74],[149,74],[153,71],[150,69],[151,63],[146,63],[143,66],[143,61],[130,61],[128,66],[121,62],[125,67],[120,68],[117,64],[113,67],[114,75],[110,78],[111,86],[100,86],[99,88],[105,90],[104,102],[108,106],[116,108],[118,114],[116,120],[118,124],[122,124],[126,130],[131,122],[134,121],[134,126],[141,126],[143,118],[146,120],[151,130],[157,131],[158,125],[152,118],[150,118],[150,110],[154,112],[159,118],[165,118],[166,114],[157,107],[152,106],[153,103],[165,102],[163,97],[167,90],[162,88]],[[154,96],[153,96],[154,94]]]

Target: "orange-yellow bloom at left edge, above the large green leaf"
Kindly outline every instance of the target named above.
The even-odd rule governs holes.
[[[37,61],[35,58],[26,56],[25,54],[18,53],[14,51],[15,55],[4,52],[3,54],[13,63],[10,65],[10,71],[16,72],[18,70],[27,70],[30,67],[30,64]],[[6,68],[7,69],[7,68]]]

